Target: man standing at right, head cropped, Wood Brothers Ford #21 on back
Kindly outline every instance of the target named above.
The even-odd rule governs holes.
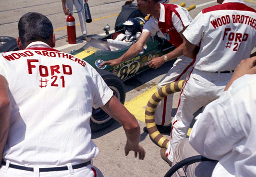
[[[177,143],[186,137],[195,111],[219,97],[233,70],[256,46],[256,11],[243,0],[224,0],[202,10],[183,35],[184,55],[195,58],[194,69],[183,87],[172,120],[166,151],[170,161]]]

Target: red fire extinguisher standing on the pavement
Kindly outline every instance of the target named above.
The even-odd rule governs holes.
[[[71,12],[67,17],[67,35],[68,35],[68,43],[75,44],[76,43],[75,20],[74,20],[74,17],[71,15]]]

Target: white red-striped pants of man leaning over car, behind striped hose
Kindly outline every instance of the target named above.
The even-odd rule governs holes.
[[[174,62],[173,67],[171,67],[168,73],[158,83],[157,89],[163,87],[168,83],[187,79],[187,75],[192,69],[192,61],[193,59],[189,59],[184,56],[179,57]],[[173,94],[170,94],[158,103],[155,111],[155,123],[157,125],[171,124],[172,98]]]

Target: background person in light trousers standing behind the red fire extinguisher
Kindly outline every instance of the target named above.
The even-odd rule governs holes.
[[[87,2],[88,0],[84,0],[85,2]],[[85,7],[83,4],[83,0],[61,0],[62,2],[62,9],[63,12],[66,15],[66,18],[69,15],[69,11],[73,11],[73,4],[76,8],[77,14],[78,14],[78,18],[79,18],[79,22],[80,22],[80,27],[81,27],[81,31],[82,31],[82,39],[86,40],[86,36],[87,36],[87,31],[86,31],[86,24],[85,24]]]

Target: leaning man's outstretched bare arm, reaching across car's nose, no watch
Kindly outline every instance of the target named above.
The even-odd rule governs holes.
[[[108,61],[104,61],[99,64],[99,67],[101,68],[104,65],[110,65],[110,66],[119,65],[123,61],[131,59],[134,56],[138,55],[143,49],[143,46],[146,44],[146,41],[149,39],[150,35],[151,34],[149,32],[142,33],[138,41],[135,42],[121,57],[119,57],[118,59],[111,59]]]

